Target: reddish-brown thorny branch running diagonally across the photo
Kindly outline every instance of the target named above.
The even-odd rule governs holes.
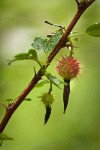
[[[50,53],[47,60],[47,66],[50,65],[53,58],[56,56],[56,54],[60,51],[62,47],[64,47],[67,43],[67,38],[74,28],[75,24],[83,14],[83,12],[95,1],[95,0],[87,0],[87,2],[84,0],[84,2],[78,2],[78,0],[75,0],[78,6],[78,11],[76,12],[74,18],[70,22],[68,28],[65,30],[65,33],[63,34],[62,38],[60,39],[59,43],[56,45],[54,50]],[[8,124],[8,121],[10,120],[11,116],[15,112],[15,110],[19,107],[19,105],[23,102],[25,97],[30,93],[30,91],[35,87],[35,85],[38,83],[39,80],[41,80],[42,76],[44,75],[42,68],[35,74],[33,79],[30,81],[28,86],[23,90],[23,92],[16,98],[15,102],[12,105],[9,105],[5,107],[6,113],[0,123],[0,133],[2,133]],[[4,105],[3,105],[4,106]]]

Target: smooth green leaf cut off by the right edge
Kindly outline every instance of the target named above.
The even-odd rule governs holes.
[[[95,24],[89,26],[85,32],[88,35],[91,35],[94,37],[100,37],[100,23],[95,23]]]

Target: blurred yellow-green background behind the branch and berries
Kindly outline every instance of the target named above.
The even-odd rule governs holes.
[[[31,48],[35,36],[46,36],[56,28],[45,20],[66,26],[76,12],[75,1],[69,0],[0,0],[0,101],[17,97],[34,75],[31,61],[7,60]],[[100,21],[100,1],[84,13],[74,31]],[[43,125],[45,108],[38,96],[48,85],[35,88],[9,121],[5,134],[14,141],[4,141],[1,150],[99,150],[100,148],[100,39],[83,35],[74,43],[79,48],[75,57],[82,62],[81,75],[71,83],[71,95],[63,114],[62,90],[54,87],[55,102],[47,125]],[[54,72],[58,57],[49,72]],[[41,59],[42,56],[41,56]],[[38,66],[37,66],[38,68]],[[0,106],[0,120],[5,110]]]

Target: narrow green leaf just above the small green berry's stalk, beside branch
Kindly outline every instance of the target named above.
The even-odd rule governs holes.
[[[58,88],[59,85],[61,84],[61,81],[58,80],[55,76],[51,75],[50,73],[46,74],[46,77],[54,84],[56,85]],[[61,88],[60,88],[61,89]]]

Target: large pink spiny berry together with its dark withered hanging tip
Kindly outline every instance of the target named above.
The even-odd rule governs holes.
[[[70,94],[70,81],[79,75],[80,62],[72,56],[62,57],[57,62],[56,71],[64,79],[63,103],[65,113]]]

